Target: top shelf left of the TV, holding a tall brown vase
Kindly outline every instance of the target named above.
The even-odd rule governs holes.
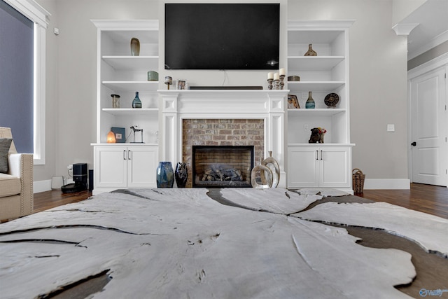
[[[158,56],[103,56],[102,59],[114,69],[158,69]]]

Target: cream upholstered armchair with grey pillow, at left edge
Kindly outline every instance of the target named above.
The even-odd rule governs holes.
[[[31,214],[34,206],[33,154],[17,153],[10,139],[10,128],[0,127],[0,221]]]

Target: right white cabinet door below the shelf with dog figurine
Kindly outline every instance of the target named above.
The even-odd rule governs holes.
[[[318,148],[319,186],[350,187],[351,159],[350,147],[330,146]]]

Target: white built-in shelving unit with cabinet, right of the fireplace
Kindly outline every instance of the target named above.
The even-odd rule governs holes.
[[[288,81],[300,109],[287,109],[288,188],[332,187],[351,190],[349,113],[349,27],[353,20],[289,20]],[[317,56],[304,56],[309,44]],[[309,92],[315,109],[305,109]],[[339,95],[335,108],[325,96]],[[323,144],[309,144],[311,128],[327,130]]]

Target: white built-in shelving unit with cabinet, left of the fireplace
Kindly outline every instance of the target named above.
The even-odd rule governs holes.
[[[116,188],[153,188],[158,163],[158,81],[148,71],[159,67],[158,20],[92,20],[97,27],[97,141],[94,146],[94,193]],[[132,56],[130,41],[140,42]],[[141,109],[132,108],[139,92]],[[112,108],[111,95],[120,95]],[[131,126],[143,129],[134,140]],[[107,144],[111,127],[125,128],[125,143]]]

